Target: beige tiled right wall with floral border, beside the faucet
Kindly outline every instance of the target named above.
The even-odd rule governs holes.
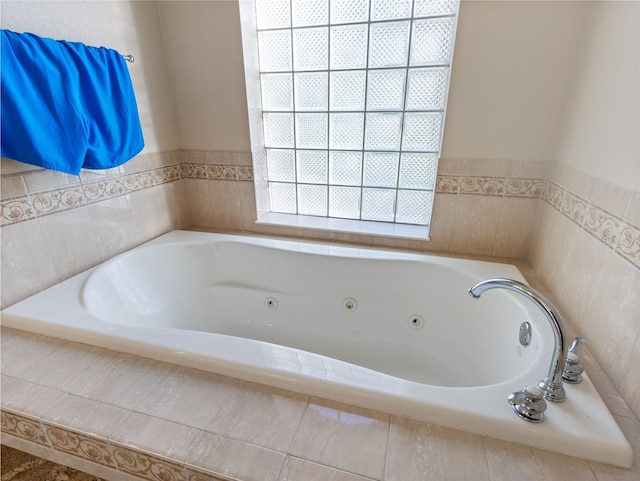
[[[640,192],[554,164],[529,260],[640,416]]]

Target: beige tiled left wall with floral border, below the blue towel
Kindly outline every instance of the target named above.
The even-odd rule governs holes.
[[[71,176],[2,159],[2,307],[185,227],[180,165],[145,154]]]

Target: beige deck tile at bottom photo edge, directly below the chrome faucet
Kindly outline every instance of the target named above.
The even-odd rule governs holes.
[[[484,439],[491,481],[597,481],[589,463],[497,439]]]

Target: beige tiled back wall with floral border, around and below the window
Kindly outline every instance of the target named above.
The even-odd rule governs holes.
[[[193,226],[511,258],[525,258],[530,250],[548,169],[547,162],[442,160],[431,239],[418,241],[256,224],[250,153],[183,154]]]

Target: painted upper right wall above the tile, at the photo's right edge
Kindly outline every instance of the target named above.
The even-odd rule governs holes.
[[[640,191],[640,2],[588,2],[554,159]]]

